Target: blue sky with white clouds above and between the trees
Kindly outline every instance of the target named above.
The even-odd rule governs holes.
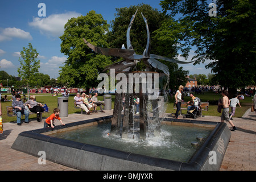
[[[46,16],[39,17],[39,3],[46,5]],[[101,14],[110,23],[113,20],[116,8],[137,6],[141,3],[148,4],[154,9],[162,11],[160,0],[9,0],[0,2],[0,70],[9,75],[18,76],[19,52],[23,47],[31,43],[39,53],[39,72],[49,75],[51,78],[59,76],[59,70],[63,66],[66,57],[60,52],[64,24],[68,19],[80,15],[86,15],[94,10]],[[193,50],[188,60],[193,56]],[[183,57],[179,57],[184,60]],[[206,61],[207,62],[207,61]],[[204,68],[204,64],[193,66],[192,64],[180,65],[189,74],[210,73]]]

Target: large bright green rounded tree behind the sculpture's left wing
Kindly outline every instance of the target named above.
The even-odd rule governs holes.
[[[109,24],[101,14],[90,11],[86,16],[71,18],[60,36],[61,52],[68,56],[61,67],[58,82],[66,86],[96,86],[98,73],[112,63],[110,57],[92,51],[82,38],[98,47],[108,47],[106,42]]]

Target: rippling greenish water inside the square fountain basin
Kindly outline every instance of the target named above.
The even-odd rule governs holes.
[[[102,123],[51,134],[51,136],[155,158],[188,162],[198,148],[192,146],[191,142],[200,143],[196,139],[198,136],[207,138],[213,131],[212,127],[162,125],[160,137],[143,140],[136,137],[135,130],[130,132],[128,139],[109,135],[110,127],[111,123]]]

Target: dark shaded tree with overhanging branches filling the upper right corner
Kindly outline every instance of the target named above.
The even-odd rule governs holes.
[[[214,17],[208,15],[207,1],[161,2],[164,12],[170,10],[171,16],[181,14],[183,53],[195,46],[195,64],[214,60],[206,68],[216,73],[212,81],[228,88],[230,96],[237,88],[255,84],[255,4],[253,0],[217,0]]]

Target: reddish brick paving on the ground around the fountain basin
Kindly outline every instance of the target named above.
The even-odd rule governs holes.
[[[69,114],[68,117],[61,118],[64,123],[81,121],[104,115],[112,115],[113,110],[106,113]],[[207,114],[207,112],[203,112]],[[171,117],[171,114],[167,114]],[[220,121],[220,117],[207,116],[199,117],[201,121]],[[44,120],[43,120],[44,121]],[[57,121],[59,122],[59,121]],[[56,123],[57,123],[56,122]],[[232,131],[232,136],[226,150],[220,171],[255,171],[256,170],[256,114],[246,111],[242,118],[233,118],[233,123],[237,131]],[[60,124],[57,123],[57,125]],[[231,126],[228,123],[231,129]],[[23,152],[13,150],[11,145],[22,131],[35,130],[43,127],[43,123],[31,121],[22,126],[15,123],[3,123],[4,132],[0,134],[0,166],[3,171],[74,171],[77,169],[63,166],[46,160],[46,164],[39,164],[39,156],[28,155]]]

